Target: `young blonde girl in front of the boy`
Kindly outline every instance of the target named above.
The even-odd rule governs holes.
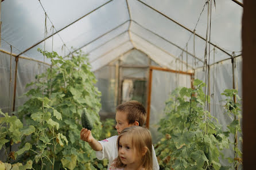
[[[118,157],[111,170],[152,170],[152,138],[141,126],[123,129],[117,139]]]

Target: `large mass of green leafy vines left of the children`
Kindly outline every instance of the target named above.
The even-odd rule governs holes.
[[[19,155],[16,161],[32,160],[34,169],[101,169],[103,165],[95,161],[95,152],[80,140],[83,108],[95,117],[92,133],[96,138],[102,129],[100,92],[94,86],[96,79],[86,56],[79,52],[64,60],[56,52],[40,52],[51,59],[52,68],[27,85],[32,86],[25,93],[30,98],[18,108],[18,116],[26,126],[20,133],[31,134],[29,138],[9,135],[11,141],[22,141],[22,149],[15,152]],[[16,123],[13,131],[18,133],[20,128]],[[20,156],[24,151],[25,155]]]

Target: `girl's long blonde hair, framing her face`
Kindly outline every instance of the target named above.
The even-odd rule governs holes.
[[[119,151],[119,140],[122,136],[128,136],[131,139],[131,145],[137,151],[138,154],[143,153],[143,148],[147,148],[145,155],[142,155],[142,167],[146,170],[152,170],[152,137],[148,129],[142,128],[141,126],[130,126],[129,128],[123,129],[117,139],[117,147]],[[117,157],[116,167],[125,167],[120,157]]]

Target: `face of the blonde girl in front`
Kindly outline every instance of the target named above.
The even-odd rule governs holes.
[[[138,152],[133,147],[131,139],[127,135],[123,135],[119,139],[118,156],[120,157],[123,164],[138,164],[139,159]]]

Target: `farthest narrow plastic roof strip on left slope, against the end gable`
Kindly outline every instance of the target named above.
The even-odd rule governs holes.
[[[112,50],[110,53],[106,54],[105,56],[103,56],[103,57],[99,58],[98,60],[91,63],[92,71],[96,71],[96,70],[102,68],[103,66],[105,66],[109,62],[115,60],[121,54],[127,52],[130,49],[133,49],[133,45],[131,44],[131,42],[126,42],[125,44]]]

